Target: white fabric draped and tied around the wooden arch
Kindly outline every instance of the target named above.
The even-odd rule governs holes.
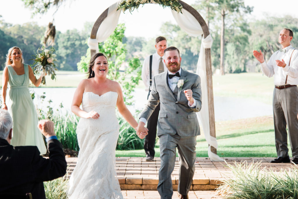
[[[88,40],[88,45],[91,50],[97,50],[98,52],[98,43],[105,41],[115,30],[118,24],[118,19],[121,13],[121,10],[117,10],[119,3],[111,5],[108,9],[108,16],[104,19],[102,24],[100,25],[96,39]],[[153,2],[154,3],[154,2]],[[187,10],[182,9],[182,13],[178,13],[174,10],[171,10],[172,14],[177,22],[177,24],[191,36],[201,37],[203,34],[203,30],[199,22],[195,19],[195,17],[190,14]],[[208,156],[212,161],[224,161],[218,155],[211,152],[211,146],[217,149],[217,141],[216,138],[210,136],[210,128],[209,128],[209,109],[208,109],[208,95],[207,95],[207,78],[206,78],[206,61],[205,61],[205,48],[210,48],[212,45],[212,37],[208,35],[205,39],[202,39],[202,45],[197,65],[197,74],[201,77],[201,86],[202,86],[202,109],[197,113],[200,125],[203,128],[204,135],[208,147]]]

